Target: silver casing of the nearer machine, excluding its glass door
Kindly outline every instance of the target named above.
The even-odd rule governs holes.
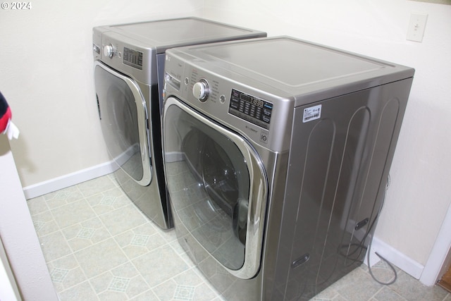
[[[206,247],[210,242],[175,216],[180,244],[227,300],[309,300],[362,263],[413,75],[413,68],[290,37],[166,51],[164,114],[179,99],[239,133],[268,174],[254,278],[231,274]],[[257,107],[264,104],[271,118],[261,124]],[[169,127],[163,127],[165,154],[173,147],[164,137]],[[175,183],[179,191],[187,188]]]

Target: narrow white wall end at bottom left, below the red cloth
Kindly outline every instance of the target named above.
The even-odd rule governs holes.
[[[56,292],[21,190],[13,154],[5,135],[0,135],[0,237],[23,300],[56,301]],[[1,258],[2,264],[8,263]],[[5,281],[5,279],[2,279]],[[2,300],[7,283],[0,283]],[[13,284],[13,279],[11,279]]]

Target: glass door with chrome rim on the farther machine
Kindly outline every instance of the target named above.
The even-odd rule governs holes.
[[[152,180],[147,109],[137,83],[96,61],[94,81],[101,129],[113,160],[142,186]]]

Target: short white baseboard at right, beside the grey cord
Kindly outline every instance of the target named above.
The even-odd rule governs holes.
[[[416,279],[419,279],[421,274],[423,273],[424,266],[422,264],[419,264],[413,259],[407,257],[406,255],[402,254],[400,251],[386,244],[377,237],[373,238],[373,242],[371,244],[371,254],[370,254],[371,266],[373,266],[380,260],[379,257],[376,254],[374,254],[375,252],[378,252],[378,254],[387,259],[390,263],[394,264],[398,268],[402,269],[402,271],[405,271],[407,274]],[[366,258],[365,264],[368,264]]]

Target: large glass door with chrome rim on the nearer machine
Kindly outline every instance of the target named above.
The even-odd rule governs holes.
[[[255,276],[268,193],[255,149],[172,97],[164,105],[163,142],[174,214],[231,274]]]

